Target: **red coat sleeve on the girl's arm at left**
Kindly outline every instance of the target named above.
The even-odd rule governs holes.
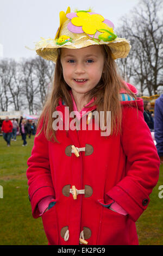
[[[37,129],[36,135],[40,129],[41,125]],[[28,193],[32,205],[32,215],[34,218],[38,218],[40,211],[37,204],[40,200],[47,196],[55,198],[49,166],[48,141],[43,131],[38,137],[35,136],[32,155],[29,157],[27,165]]]

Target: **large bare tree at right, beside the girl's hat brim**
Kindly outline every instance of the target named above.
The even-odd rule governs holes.
[[[122,37],[130,40],[132,48],[126,59],[118,60],[124,79],[133,79],[143,94],[156,94],[163,86],[163,56],[159,54],[163,42],[163,22],[159,16],[161,0],[142,0],[131,17],[122,17],[118,29]],[[125,68],[124,68],[125,66]]]

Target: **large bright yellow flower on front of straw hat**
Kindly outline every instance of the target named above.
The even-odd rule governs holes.
[[[86,34],[95,34],[99,29],[109,29],[109,27],[103,23],[104,17],[100,14],[92,14],[86,12],[78,12],[78,17],[73,17],[71,22],[74,26],[82,27]]]

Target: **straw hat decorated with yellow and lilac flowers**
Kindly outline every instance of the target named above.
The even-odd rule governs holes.
[[[78,49],[90,45],[108,45],[112,58],[125,58],[130,51],[130,42],[118,38],[114,24],[100,14],[91,11],[60,11],[60,26],[55,38],[44,39],[35,45],[36,53],[46,60],[56,62],[58,48]]]

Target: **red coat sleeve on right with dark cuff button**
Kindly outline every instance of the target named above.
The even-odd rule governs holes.
[[[138,111],[138,113],[137,113]],[[136,107],[124,106],[121,143],[127,157],[126,176],[106,194],[136,222],[159,179],[160,159],[151,132]]]

